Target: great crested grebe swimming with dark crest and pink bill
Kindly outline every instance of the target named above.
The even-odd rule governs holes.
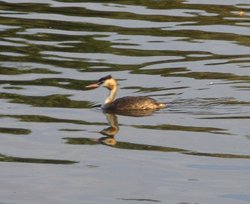
[[[86,88],[97,88],[100,86],[106,87],[110,91],[109,96],[106,98],[104,104],[102,105],[102,108],[104,110],[138,111],[157,110],[167,107],[166,104],[158,103],[155,99],[145,96],[125,96],[115,99],[118,90],[118,84],[111,75],[100,78],[97,83],[90,84],[86,86]]]

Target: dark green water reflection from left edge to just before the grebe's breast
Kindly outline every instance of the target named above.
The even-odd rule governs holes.
[[[11,103],[28,104],[35,107],[64,107],[64,108],[90,108],[92,103],[88,101],[74,101],[69,95],[49,96],[23,96],[11,93],[0,93],[1,99],[9,99]]]

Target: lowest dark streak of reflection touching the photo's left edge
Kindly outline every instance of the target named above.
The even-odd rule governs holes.
[[[36,158],[22,158],[12,157],[0,154],[0,162],[21,162],[21,163],[35,163],[35,164],[75,164],[76,161],[70,160],[56,160],[56,159],[36,159]]]

